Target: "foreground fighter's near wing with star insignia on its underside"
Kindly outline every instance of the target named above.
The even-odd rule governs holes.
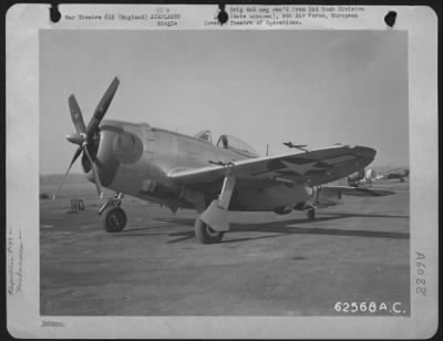
[[[176,183],[188,186],[223,180],[228,173],[238,178],[278,178],[318,186],[365,167],[374,156],[375,151],[369,147],[332,146],[279,156],[246,158],[233,162],[230,166],[172,169],[168,176]]]

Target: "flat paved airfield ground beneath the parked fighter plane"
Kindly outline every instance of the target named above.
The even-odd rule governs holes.
[[[96,198],[80,213],[69,198],[41,200],[41,314],[409,316],[409,184],[377,186],[396,194],[344,196],[315,221],[231,213],[218,245],[195,239],[192,210],[127,197],[125,230],[107,234]]]

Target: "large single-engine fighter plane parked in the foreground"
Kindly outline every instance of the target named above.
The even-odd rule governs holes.
[[[229,230],[228,210],[307,210],[337,205],[341,195],[383,196],[389,190],[323,186],[369,165],[375,151],[347,145],[260,157],[239,140],[222,135],[214,144],[209,131],[196,136],[169,132],[148,124],[103,121],[119,86],[115,78],[100,101],[87,126],[74,97],[69,108],[76,133],[66,140],[79,147],[56,190],[74,162],[81,157],[85,176],[115,190],[115,198],[100,209],[106,231],[121,231],[126,215],[123,195],[177,208],[196,209],[196,237],[204,244],[219,242]],[[298,146],[299,147],[299,146]]]

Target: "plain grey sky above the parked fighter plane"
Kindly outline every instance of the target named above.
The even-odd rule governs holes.
[[[260,154],[336,143],[409,165],[405,31],[40,32],[40,173],[64,173],[76,146],[68,97],[89,122],[114,76],[105,118],[182,134],[208,128]],[[81,173],[80,162],[72,173]]]

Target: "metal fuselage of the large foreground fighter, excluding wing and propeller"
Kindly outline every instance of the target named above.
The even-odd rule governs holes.
[[[212,142],[122,121],[103,121],[95,163],[102,185],[106,188],[169,207],[195,208],[183,197],[183,186],[168,173],[229,163],[254,153],[239,153]],[[85,167],[86,166],[86,167]],[[83,163],[87,178],[92,172]],[[204,193],[207,203],[216,198],[222,184],[204,184],[192,188]],[[302,184],[276,180],[257,182],[244,178],[233,195],[230,210],[275,210],[278,207],[302,205],[311,189]]]

